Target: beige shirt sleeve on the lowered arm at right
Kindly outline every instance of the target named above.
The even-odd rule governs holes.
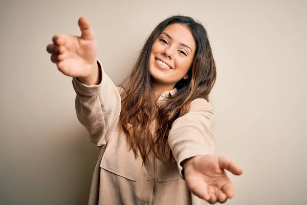
[[[168,135],[168,144],[184,179],[182,162],[185,159],[214,154],[215,138],[211,130],[214,107],[205,99],[194,99],[189,112],[176,119]]]

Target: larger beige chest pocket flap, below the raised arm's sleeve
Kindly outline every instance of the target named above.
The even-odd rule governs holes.
[[[142,168],[141,157],[135,158],[133,150],[129,150],[125,134],[120,125],[115,135],[109,140],[100,162],[100,168],[129,180],[136,181]]]

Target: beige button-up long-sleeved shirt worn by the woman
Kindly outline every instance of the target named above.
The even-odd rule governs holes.
[[[98,60],[99,65],[99,60]],[[102,69],[99,85],[87,86],[72,80],[76,91],[78,120],[89,132],[91,141],[101,147],[94,170],[89,204],[170,205],[207,204],[188,191],[181,162],[197,155],[214,154],[211,130],[213,106],[205,99],[192,101],[189,112],[172,124],[168,144],[175,160],[165,166],[151,152],[149,161],[135,159],[119,124],[121,88]],[[169,93],[164,92],[162,101]]]

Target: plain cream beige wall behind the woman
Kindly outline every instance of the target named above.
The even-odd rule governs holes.
[[[0,1],[0,204],[86,204],[99,149],[77,120],[72,78],[46,47],[89,20],[105,72],[120,83],[146,37],[174,14],[208,31],[217,66],[216,154],[226,204],[307,204],[307,1]],[[174,193],[177,194],[177,193]],[[171,204],[171,202],[170,202]]]

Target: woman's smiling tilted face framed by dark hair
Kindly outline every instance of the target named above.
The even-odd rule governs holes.
[[[181,24],[168,25],[152,45],[149,73],[155,85],[174,87],[192,65],[195,40],[190,30]]]

